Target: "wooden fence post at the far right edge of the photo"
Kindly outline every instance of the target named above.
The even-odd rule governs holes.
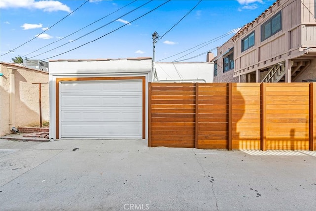
[[[310,83],[309,150],[316,150],[316,83]]]

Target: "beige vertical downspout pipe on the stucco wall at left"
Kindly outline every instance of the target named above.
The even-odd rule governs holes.
[[[10,78],[10,87],[9,87],[9,95],[10,95],[10,130],[15,128],[15,71],[16,69],[12,67],[8,67],[9,78]]]

